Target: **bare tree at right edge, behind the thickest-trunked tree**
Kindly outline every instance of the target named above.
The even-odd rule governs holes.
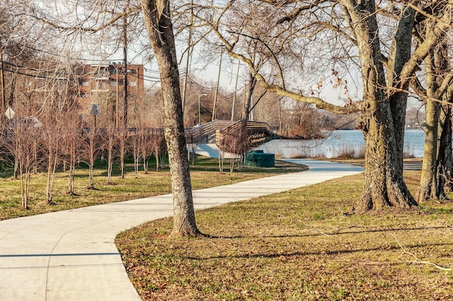
[[[444,4],[432,4],[435,11]],[[422,41],[431,35],[434,20],[421,16],[415,37]],[[451,179],[452,170],[452,124],[451,99],[453,73],[449,65],[445,34],[439,37],[436,47],[431,49],[425,59],[425,88],[420,81],[413,81],[414,90],[426,105],[425,147],[423,153],[422,175],[417,200],[445,199],[445,184]],[[420,77],[420,76],[419,76]]]

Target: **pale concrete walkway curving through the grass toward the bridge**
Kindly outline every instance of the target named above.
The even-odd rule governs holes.
[[[310,169],[193,191],[195,209],[362,172],[352,165],[290,161]],[[172,214],[168,194],[0,221],[0,300],[139,300],[115,236]]]

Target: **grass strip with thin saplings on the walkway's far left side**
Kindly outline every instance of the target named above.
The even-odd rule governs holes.
[[[225,160],[225,165],[227,162],[229,160]],[[278,166],[279,164],[277,164],[275,168],[246,167],[241,171],[236,168],[232,173],[229,172],[229,169],[225,169],[221,174],[218,165],[217,159],[197,158],[195,165],[191,166],[190,172],[193,189],[233,184],[248,179],[302,170],[302,167],[297,165]],[[140,167],[142,166],[140,165]],[[96,189],[87,189],[88,170],[81,165],[76,170],[76,187],[74,189],[76,195],[67,194],[68,173],[60,171],[56,175],[54,184],[52,201],[55,205],[49,205],[45,201],[47,173],[38,172],[31,176],[30,208],[28,210],[21,208],[21,181],[13,179],[11,172],[4,172],[3,177],[0,177],[0,220],[171,193],[168,168],[156,172],[155,165],[151,165],[147,174],[141,170],[137,178],[133,170],[132,163],[127,162],[125,178],[121,179],[119,167],[115,165],[112,184],[108,184],[106,166],[98,164],[94,170],[94,187]]]

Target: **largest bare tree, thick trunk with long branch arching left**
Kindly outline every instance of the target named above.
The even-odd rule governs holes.
[[[439,6],[435,14],[423,11],[423,4],[420,8],[412,2],[397,1],[379,4],[374,1],[316,1],[307,5],[302,1],[224,1],[222,4],[200,9],[196,14],[215,33],[217,41],[225,45],[229,55],[248,66],[260,85],[270,92],[313,103],[338,114],[362,113],[366,144],[365,186],[354,212],[416,206],[403,181],[408,84],[440,35],[448,30],[451,4]],[[247,13],[238,16],[238,11]],[[411,33],[416,13],[428,14],[435,23],[430,35],[412,48]],[[233,14],[235,25],[231,24]],[[321,44],[319,38],[313,38],[321,33],[331,40]],[[260,51],[270,58],[267,68],[257,69],[248,55],[246,42],[243,42],[248,40],[262,46]],[[319,55],[327,49],[334,54],[334,60]],[[335,59],[337,57],[360,67],[361,99],[346,98],[345,105],[333,105],[317,93],[316,85],[301,91],[297,88],[299,81],[291,81],[294,74],[300,74],[297,69],[306,70],[319,59],[325,61],[328,71],[336,69],[336,64],[345,66]],[[319,69],[311,70],[316,73]],[[325,73],[327,70],[323,69]],[[345,85],[343,76],[336,78],[339,85]]]

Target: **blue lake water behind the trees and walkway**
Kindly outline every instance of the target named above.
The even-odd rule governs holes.
[[[265,153],[274,153],[276,158],[336,158],[342,154],[353,154],[356,158],[365,153],[362,131],[333,131],[327,138],[299,140],[276,139],[256,148]],[[404,153],[407,156],[423,158],[425,132],[409,129],[404,134]]]

